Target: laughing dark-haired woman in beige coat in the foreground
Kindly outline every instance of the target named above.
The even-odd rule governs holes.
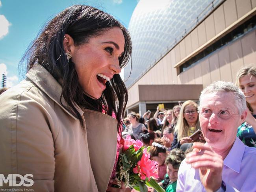
[[[131,50],[124,26],[94,7],[50,20],[24,56],[26,79],[0,98],[0,173],[32,174],[35,191],[123,191],[111,178]]]

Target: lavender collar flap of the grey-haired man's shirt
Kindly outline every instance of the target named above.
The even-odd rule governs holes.
[[[245,152],[245,145],[239,138],[236,140],[229,151],[228,155],[224,159],[224,165],[239,173],[241,168],[241,162],[243,159],[243,153]]]

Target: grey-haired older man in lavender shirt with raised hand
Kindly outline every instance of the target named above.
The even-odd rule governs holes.
[[[176,191],[256,192],[256,148],[236,137],[247,115],[245,96],[217,81],[200,95],[199,121],[206,144],[194,143],[180,165]]]

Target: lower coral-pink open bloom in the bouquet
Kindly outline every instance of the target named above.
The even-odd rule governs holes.
[[[143,155],[141,157],[141,160],[138,161],[137,165],[135,168],[133,168],[133,172],[135,174],[139,173],[139,176],[142,180],[145,180],[146,177],[148,177],[150,181],[150,177],[158,177],[157,172],[157,167],[158,167],[158,162],[156,161],[151,161],[150,155],[147,153],[147,150],[143,150]]]

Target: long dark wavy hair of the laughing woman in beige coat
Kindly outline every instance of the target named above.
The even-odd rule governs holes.
[[[75,45],[79,46],[89,42],[91,37],[101,35],[113,27],[119,27],[124,35],[124,53],[119,58],[119,65],[122,68],[130,59],[132,52],[132,42],[128,31],[108,13],[83,5],[68,7],[50,20],[20,61],[22,64],[26,60],[27,71],[38,63],[50,72],[60,83],[61,97],[69,105],[68,110],[80,120],[83,130],[85,126],[74,103],[81,108],[105,111],[110,116],[115,113],[118,127],[120,127],[123,124],[122,117],[128,100],[128,92],[119,74],[115,74],[111,81],[106,83],[106,89],[99,99],[86,96],[78,83],[75,64],[71,61],[72,59],[68,61],[65,55],[64,35],[69,34]]]

